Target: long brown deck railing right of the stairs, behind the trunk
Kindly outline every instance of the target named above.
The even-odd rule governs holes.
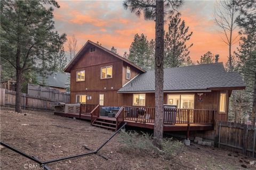
[[[124,106],[124,120],[154,123],[154,107]],[[214,123],[215,110],[164,108],[164,124],[210,124]]]

